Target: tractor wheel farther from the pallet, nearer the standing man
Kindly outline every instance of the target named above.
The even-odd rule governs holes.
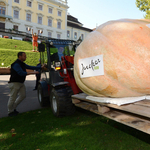
[[[38,92],[38,101],[39,101],[41,107],[49,106],[50,105],[49,98],[43,96],[43,90],[42,90],[41,84],[38,85],[37,92]]]

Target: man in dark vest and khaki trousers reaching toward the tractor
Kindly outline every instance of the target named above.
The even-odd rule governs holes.
[[[16,116],[19,112],[16,111],[16,107],[22,102],[22,100],[26,97],[26,88],[24,85],[24,81],[27,75],[30,74],[38,74],[38,71],[34,72],[26,72],[26,69],[38,70],[43,68],[44,66],[29,66],[24,63],[26,60],[26,53],[19,52],[18,59],[11,64],[11,76],[9,80],[9,88],[10,88],[10,97],[8,100],[8,116]],[[18,96],[18,97],[17,97]]]

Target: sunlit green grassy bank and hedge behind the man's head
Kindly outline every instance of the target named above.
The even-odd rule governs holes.
[[[32,52],[31,42],[0,38],[0,67],[10,67],[19,51],[26,52],[25,63],[28,65],[36,66],[39,63],[40,54]]]

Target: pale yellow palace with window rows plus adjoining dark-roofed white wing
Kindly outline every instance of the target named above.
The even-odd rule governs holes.
[[[0,28],[27,33],[31,28],[36,33],[42,30],[39,34],[45,37],[84,39],[91,30],[67,15],[68,8],[67,0],[0,0]]]

